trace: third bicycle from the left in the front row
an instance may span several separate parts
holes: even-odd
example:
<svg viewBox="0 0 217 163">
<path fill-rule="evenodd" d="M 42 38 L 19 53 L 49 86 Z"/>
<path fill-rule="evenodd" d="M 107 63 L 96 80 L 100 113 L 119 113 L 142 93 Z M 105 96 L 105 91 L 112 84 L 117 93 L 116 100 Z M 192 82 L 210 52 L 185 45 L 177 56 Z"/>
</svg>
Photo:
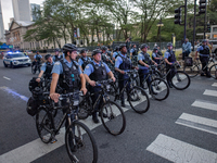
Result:
<svg viewBox="0 0 217 163">
<path fill-rule="evenodd" d="M 135 112 L 142 114 L 145 113 L 150 109 L 150 99 L 146 92 L 138 87 L 138 74 L 136 70 L 125 72 L 129 77 L 127 78 L 127 83 L 124 88 L 119 90 L 119 87 L 113 83 L 112 86 L 112 96 L 114 96 L 114 101 L 120 100 L 122 93 L 127 93 L 127 101 Z M 129 90 L 127 91 L 127 87 Z"/>
</svg>

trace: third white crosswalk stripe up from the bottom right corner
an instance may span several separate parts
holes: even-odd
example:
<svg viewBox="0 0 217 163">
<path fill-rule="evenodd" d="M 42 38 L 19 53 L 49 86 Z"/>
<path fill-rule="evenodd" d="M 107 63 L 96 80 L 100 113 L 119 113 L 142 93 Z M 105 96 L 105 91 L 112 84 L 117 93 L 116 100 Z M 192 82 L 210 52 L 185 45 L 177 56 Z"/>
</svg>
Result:
<svg viewBox="0 0 217 163">
<path fill-rule="evenodd" d="M 217 111 L 217 102 L 210 102 L 210 101 L 205 101 L 205 100 L 195 100 L 191 105 Z"/>
</svg>

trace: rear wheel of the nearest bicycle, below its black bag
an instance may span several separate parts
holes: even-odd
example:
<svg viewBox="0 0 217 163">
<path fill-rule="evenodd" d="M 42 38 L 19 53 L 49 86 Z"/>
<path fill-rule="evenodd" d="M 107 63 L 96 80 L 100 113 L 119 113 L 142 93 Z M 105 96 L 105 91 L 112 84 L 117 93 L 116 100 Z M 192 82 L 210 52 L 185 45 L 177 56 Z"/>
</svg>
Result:
<svg viewBox="0 0 217 163">
<path fill-rule="evenodd" d="M 40 139 L 44 143 L 49 143 L 52 140 L 52 135 L 51 135 L 52 125 L 47 110 L 41 109 L 36 114 L 36 128 Z"/>
</svg>

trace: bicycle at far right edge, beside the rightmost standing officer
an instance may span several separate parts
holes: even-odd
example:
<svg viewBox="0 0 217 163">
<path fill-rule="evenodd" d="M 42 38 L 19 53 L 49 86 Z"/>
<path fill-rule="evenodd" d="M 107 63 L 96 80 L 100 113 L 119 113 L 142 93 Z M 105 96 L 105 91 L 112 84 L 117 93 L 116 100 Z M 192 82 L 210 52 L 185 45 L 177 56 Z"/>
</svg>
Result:
<svg viewBox="0 0 217 163">
<path fill-rule="evenodd" d="M 210 65 L 213 64 L 213 65 Z M 206 64 L 206 66 L 203 68 L 208 68 L 208 72 L 210 74 L 210 76 L 215 79 L 217 79 L 217 64 L 215 62 L 215 54 L 212 55 L 212 58 L 209 58 L 208 63 Z M 183 67 L 183 71 L 190 76 L 190 77 L 195 77 L 199 74 L 203 73 L 202 66 L 199 62 L 199 59 L 196 59 L 196 61 L 193 62 L 192 66 L 186 66 Z"/>
</svg>

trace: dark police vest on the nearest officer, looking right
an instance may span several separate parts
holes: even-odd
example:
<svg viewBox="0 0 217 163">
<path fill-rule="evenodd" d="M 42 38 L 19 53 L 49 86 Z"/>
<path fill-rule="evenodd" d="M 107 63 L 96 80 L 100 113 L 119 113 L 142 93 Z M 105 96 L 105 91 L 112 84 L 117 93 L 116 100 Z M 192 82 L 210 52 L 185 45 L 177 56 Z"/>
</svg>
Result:
<svg viewBox="0 0 217 163">
<path fill-rule="evenodd" d="M 63 74 L 60 75 L 59 83 L 60 86 L 66 91 L 72 92 L 74 90 L 80 89 L 80 77 L 79 77 L 79 65 L 73 60 L 73 64 L 68 67 L 63 60 L 60 61 L 63 66 Z"/>
</svg>

